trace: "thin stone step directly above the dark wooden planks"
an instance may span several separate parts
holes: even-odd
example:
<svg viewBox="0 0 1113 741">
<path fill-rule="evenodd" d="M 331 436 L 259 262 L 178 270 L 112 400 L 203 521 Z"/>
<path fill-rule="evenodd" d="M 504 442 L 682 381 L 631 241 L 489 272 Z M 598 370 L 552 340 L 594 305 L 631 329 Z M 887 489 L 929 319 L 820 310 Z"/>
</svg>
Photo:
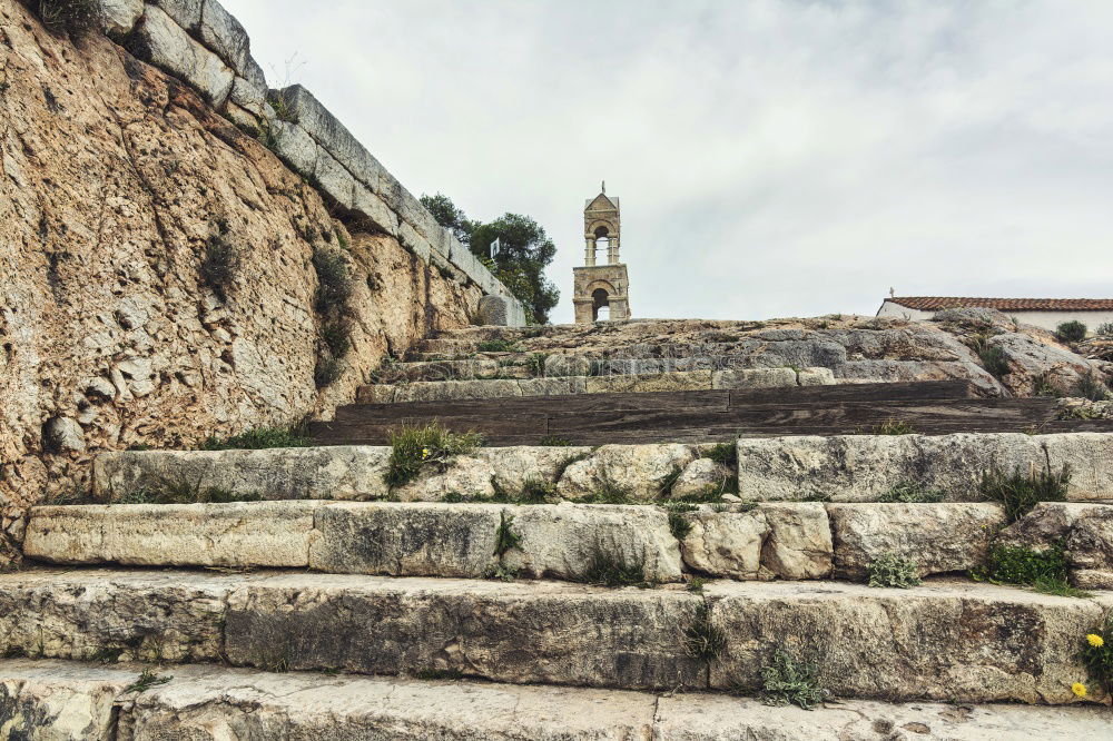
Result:
<svg viewBox="0 0 1113 741">
<path fill-rule="evenodd" d="M 463 360 L 461 360 L 463 363 Z M 445 364 L 422 366 L 432 368 Z M 610 375 L 554 374 L 532 377 L 528 372 L 491 369 L 486 378 L 412 381 L 359 386 L 359 404 L 402 404 L 470 398 L 513 398 L 570 394 L 621 394 L 647 392 L 690 392 L 712 389 L 785 388 L 835 383 L 827 368 L 748 368 L 738 370 L 686 370 Z M 502 374 L 500 376 L 500 374 Z M 450 374 L 451 375 L 451 374 Z M 500 376 L 500 377 L 495 377 Z"/>
</svg>

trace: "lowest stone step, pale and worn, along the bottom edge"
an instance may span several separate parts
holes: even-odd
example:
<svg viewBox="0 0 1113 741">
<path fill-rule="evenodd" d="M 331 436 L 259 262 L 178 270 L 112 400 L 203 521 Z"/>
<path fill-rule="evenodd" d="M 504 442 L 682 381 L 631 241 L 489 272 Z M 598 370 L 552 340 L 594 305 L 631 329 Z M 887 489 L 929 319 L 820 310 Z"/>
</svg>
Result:
<svg viewBox="0 0 1113 741">
<path fill-rule="evenodd" d="M 165 683 L 128 691 L 142 672 Z M 705 692 L 522 686 L 273 673 L 205 664 L 0 661 L 0 733 L 12 739 L 1100 739 L 1109 709 L 851 700 L 808 712 Z"/>
</svg>

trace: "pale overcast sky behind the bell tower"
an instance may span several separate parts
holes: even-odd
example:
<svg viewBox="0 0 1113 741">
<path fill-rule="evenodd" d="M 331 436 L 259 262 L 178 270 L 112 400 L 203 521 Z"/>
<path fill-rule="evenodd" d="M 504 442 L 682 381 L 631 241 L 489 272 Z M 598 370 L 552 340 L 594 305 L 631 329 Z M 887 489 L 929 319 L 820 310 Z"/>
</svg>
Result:
<svg viewBox="0 0 1113 741">
<path fill-rule="evenodd" d="M 223 0 L 415 195 L 533 216 L 572 318 L 622 199 L 636 317 L 1113 296 L 1113 0 Z"/>
</svg>

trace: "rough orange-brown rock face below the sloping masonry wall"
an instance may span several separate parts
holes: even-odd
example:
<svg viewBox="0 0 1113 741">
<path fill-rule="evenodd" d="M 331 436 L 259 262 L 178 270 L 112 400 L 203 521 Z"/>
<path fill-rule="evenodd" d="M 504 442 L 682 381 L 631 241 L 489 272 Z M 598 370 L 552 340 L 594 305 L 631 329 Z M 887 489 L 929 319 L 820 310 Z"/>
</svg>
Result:
<svg viewBox="0 0 1113 741">
<path fill-rule="evenodd" d="M 0 531 L 104 449 L 288 424 L 481 292 L 316 190 L 187 86 L 0 0 Z M 213 245 L 238 265 L 203 277 Z M 314 253 L 347 263 L 352 349 L 318 391 Z M 442 275 L 442 273 L 444 275 Z M 0 556 L 2 562 L 2 556 Z"/>
</svg>

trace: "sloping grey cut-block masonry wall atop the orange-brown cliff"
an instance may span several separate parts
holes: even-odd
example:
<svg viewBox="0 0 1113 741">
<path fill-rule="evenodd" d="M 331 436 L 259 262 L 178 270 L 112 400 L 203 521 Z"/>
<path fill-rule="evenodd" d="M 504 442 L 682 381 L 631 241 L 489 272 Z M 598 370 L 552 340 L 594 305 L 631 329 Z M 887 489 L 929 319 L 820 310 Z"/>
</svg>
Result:
<svg viewBox="0 0 1113 741">
<path fill-rule="evenodd" d="M 260 136 L 346 220 L 395 237 L 426 263 L 502 300 L 495 315 L 525 324 L 525 310 L 397 179 L 299 85 L 267 86 L 244 27 L 216 0 L 100 0 L 108 34 L 198 90 L 242 129 Z M 277 108 L 277 110 L 276 110 Z M 503 312 L 504 307 L 504 312 Z"/>
</svg>

